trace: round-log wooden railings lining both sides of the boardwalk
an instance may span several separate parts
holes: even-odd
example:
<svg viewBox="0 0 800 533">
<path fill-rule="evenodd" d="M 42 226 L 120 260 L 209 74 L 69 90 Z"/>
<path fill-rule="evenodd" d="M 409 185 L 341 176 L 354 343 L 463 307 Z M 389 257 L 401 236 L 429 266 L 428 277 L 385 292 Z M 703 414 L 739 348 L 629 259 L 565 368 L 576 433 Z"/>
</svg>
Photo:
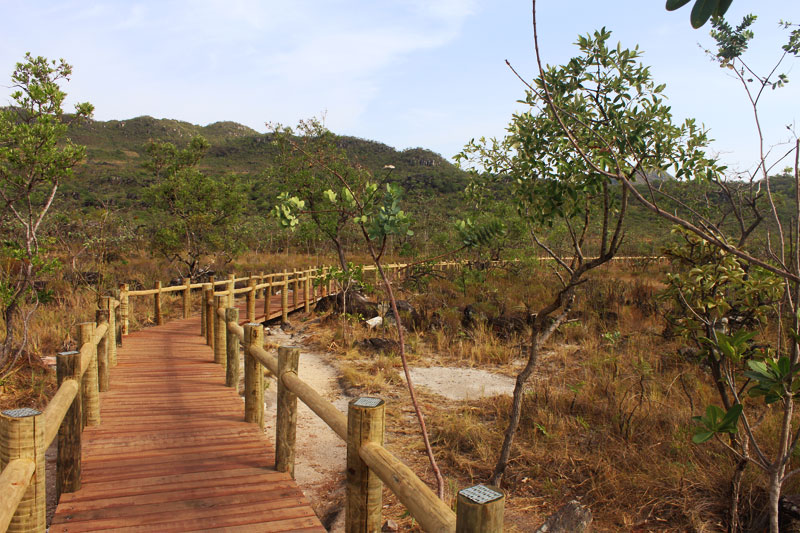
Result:
<svg viewBox="0 0 800 533">
<path fill-rule="evenodd" d="M 458 268 L 458 263 L 438 263 L 435 269 Z M 407 265 L 384 267 L 390 277 L 407 272 Z M 378 272 L 375 267 L 375 281 Z M 200 334 L 214 349 L 214 360 L 223 365 L 226 385 L 239 383 L 239 350 L 244 345 L 244 419 L 264 428 L 264 372 L 266 367 L 278 381 L 275 439 L 276 469 L 294 477 L 297 399 L 303 401 L 347 443 L 346 522 L 348 532 L 379 531 L 381 528 L 382 483 L 408 508 L 429 532 L 502 531 L 504 495 L 493 487 L 478 485 L 459 492 L 457 513 L 440 500 L 414 472 L 383 447 L 385 405 L 379 398 L 362 397 L 350 402 L 347 414 L 320 396 L 298 375 L 300 350 L 281 347 L 278 358 L 263 348 L 263 326 L 256 320 L 255 303 L 264 297 L 264 314 L 270 317 L 273 291 L 281 293 L 282 320 L 300 306 L 310 310 L 312 302 L 330 293 L 330 283 L 316 284 L 326 268 L 260 273 L 225 280 L 129 290 L 123 284 L 118 299 L 104 297 L 96 322 L 78 325 L 78 351 L 57 357 L 58 391 L 43 412 L 15 409 L 0 414 L 0 531 L 43 532 L 46 526 L 45 450 L 58 437 L 58 495 L 73 492 L 81 484 L 81 432 L 86 425 L 100 424 L 99 393 L 108 390 L 108 371 L 116 365 L 117 342 L 129 331 L 130 298 L 153 296 L 156 324 L 163 324 L 161 296 L 181 291 L 183 316 L 191 314 L 191 291 L 202 290 Z M 245 287 L 236 284 L 246 281 Z M 224 290 L 216 290 L 223 285 Z M 289 304 L 291 288 L 292 305 Z M 237 295 L 247 299 L 247 323 L 239 324 L 235 308 Z M 277 309 L 276 309 L 277 311 Z"/>
</svg>

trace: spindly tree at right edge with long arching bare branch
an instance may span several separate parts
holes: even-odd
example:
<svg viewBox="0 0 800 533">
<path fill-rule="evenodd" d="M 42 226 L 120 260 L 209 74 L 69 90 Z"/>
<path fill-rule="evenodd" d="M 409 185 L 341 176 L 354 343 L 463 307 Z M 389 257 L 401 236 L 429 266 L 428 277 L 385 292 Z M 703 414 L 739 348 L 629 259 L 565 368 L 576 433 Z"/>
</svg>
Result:
<svg viewBox="0 0 800 533">
<path fill-rule="evenodd" d="M 773 150 L 766 146 L 758 109 L 761 96 L 766 88 L 778 88 L 788 81 L 785 74 L 778 72 L 778 68 L 785 57 L 800 54 L 800 29 L 790 31 L 788 42 L 782 48 L 783 55 L 774 68 L 768 70 L 767 75 L 758 75 L 742 59 L 742 54 L 747 49 L 747 42 L 752 38 L 752 32 L 748 28 L 754 19 L 752 16 L 745 17 L 742 24 L 733 28 L 717 17 L 712 22 L 714 25 L 712 36 L 717 42 L 717 52 L 714 57 L 722 67 L 731 69 L 743 85 L 759 133 L 761 155 L 757 169 L 751 176 L 760 178 L 758 188 L 765 192 L 764 196 L 771 215 L 770 229 L 766 239 L 767 249 L 760 254 L 737 244 L 744 242 L 741 238 L 738 240 L 728 238 L 724 228 L 715 225 L 703 213 L 692 210 L 686 204 L 682 204 L 689 211 L 689 215 L 685 217 L 663 208 L 665 197 L 661 195 L 659 187 L 654 185 L 649 178 L 648 170 L 652 169 L 656 172 L 671 170 L 676 179 L 690 183 L 725 183 L 723 176 L 727 169 L 705 156 L 701 150 L 704 142 L 702 144 L 698 144 L 697 141 L 687 143 L 677 154 L 679 157 L 669 165 L 653 165 L 653 161 L 642 159 L 634 153 L 621 151 L 618 144 L 619 138 L 610 137 L 597 131 L 592 121 L 581 118 L 582 110 L 565 107 L 560 98 L 560 82 L 558 80 L 547 80 L 547 83 L 541 87 L 541 95 L 550 115 L 561 130 L 563 142 L 580 155 L 589 169 L 608 179 L 622 183 L 635 201 L 659 217 L 673 222 L 682 230 L 715 247 L 722 253 L 721 257 L 732 256 L 745 264 L 745 270 L 758 268 L 781 280 L 783 298 L 777 312 L 779 317 L 778 337 L 774 344 L 757 350 L 754 354 L 753 337 L 748 332 L 742 332 L 742 335 L 733 337 L 722 332 L 722 335 L 726 335 L 725 337 L 718 334 L 709 339 L 714 353 L 726 358 L 721 365 L 724 367 L 722 368 L 723 389 L 725 394 L 729 394 L 733 399 L 733 405 L 725 412 L 719 407 L 709 406 L 704 417 L 696 418 L 696 422 L 702 427 L 695 436 L 696 442 L 701 442 L 711 436 L 736 433 L 739 427 L 745 430 L 747 446 L 751 453 L 749 455 L 740 453 L 731 446 L 729 446 L 729 451 L 739 459 L 755 464 L 767 475 L 770 531 L 777 533 L 781 487 L 787 479 L 800 473 L 800 469 L 787 471 L 789 462 L 800 443 L 800 428 L 793 424 L 794 398 L 800 388 L 800 379 L 797 375 L 800 370 L 800 345 L 798 345 L 800 342 L 800 315 L 798 314 L 800 310 L 798 307 L 800 305 L 800 259 L 797 256 L 797 251 L 800 250 L 800 232 L 797 231 L 798 222 L 800 222 L 800 140 L 792 133 L 794 140 L 790 147 L 775 155 Z M 786 28 L 793 27 L 789 23 L 783 25 Z M 546 70 L 542 66 L 539 53 L 535 0 L 533 0 L 533 30 L 540 78 L 544 78 Z M 573 98 L 591 101 L 593 92 L 591 87 L 578 87 Z M 646 110 L 647 108 L 645 108 Z M 689 131 L 697 131 L 693 123 L 689 123 L 687 126 L 690 127 Z M 630 133 L 634 137 L 626 139 L 625 145 L 636 146 L 640 142 L 641 131 L 633 130 Z M 698 136 L 698 139 L 705 139 L 705 134 Z M 598 151 L 598 146 L 603 149 Z M 612 164 L 609 164 L 608 154 L 613 154 Z M 775 164 L 787 159 L 794 160 L 794 209 L 790 219 L 784 221 L 781 220 L 778 213 L 776 200 L 771 190 L 769 172 Z M 642 187 L 637 187 L 635 180 L 632 179 L 633 176 L 625 172 L 625 169 L 631 166 L 641 167 L 641 172 L 636 176 L 643 182 Z M 666 199 L 670 202 L 681 203 L 676 198 Z M 734 265 L 729 265 L 729 270 L 730 272 L 737 271 Z M 699 322 L 702 323 L 702 320 Z M 763 342 L 763 339 L 761 341 Z M 745 352 L 752 354 L 750 357 L 753 357 L 754 360 L 744 357 Z M 746 364 L 746 368 L 741 368 L 741 364 Z M 778 422 L 777 442 L 770 442 L 769 446 L 759 442 L 755 434 L 755 426 L 758 425 L 758 420 L 761 418 L 754 420 L 747 415 L 748 404 L 745 402 L 745 394 L 750 397 L 762 398 L 767 406 L 778 407 L 779 414 L 776 416 L 780 421 Z M 703 435 L 703 438 L 698 435 Z M 725 444 L 721 439 L 720 441 Z"/>
</svg>

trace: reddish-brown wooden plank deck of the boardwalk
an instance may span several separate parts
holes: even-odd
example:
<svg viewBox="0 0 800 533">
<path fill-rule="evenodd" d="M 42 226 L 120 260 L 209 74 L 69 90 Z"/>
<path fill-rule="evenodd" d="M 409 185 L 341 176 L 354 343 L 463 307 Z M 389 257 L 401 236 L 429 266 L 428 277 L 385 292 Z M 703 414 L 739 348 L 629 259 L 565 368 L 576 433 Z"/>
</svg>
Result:
<svg viewBox="0 0 800 533">
<path fill-rule="evenodd" d="M 125 337 L 50 532 L 325 531 L 199 333 L 193 317 Z"/>
</svg>

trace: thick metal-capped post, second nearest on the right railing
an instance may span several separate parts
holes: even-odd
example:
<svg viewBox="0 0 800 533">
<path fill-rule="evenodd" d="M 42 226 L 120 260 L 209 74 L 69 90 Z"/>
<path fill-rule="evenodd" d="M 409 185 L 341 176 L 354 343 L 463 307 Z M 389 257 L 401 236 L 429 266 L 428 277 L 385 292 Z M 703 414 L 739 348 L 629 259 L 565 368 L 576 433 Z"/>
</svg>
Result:
<svg viewBox="0 0 800 533">
<path fill-rule="evenodd" d="M 383 445 L 384 416 L 385 404 L 380 398 L 355 399 L 347 410 L 347 533 L 381 530 L 383 483 L 358 452 L 366 442 Z"/>
</svg>

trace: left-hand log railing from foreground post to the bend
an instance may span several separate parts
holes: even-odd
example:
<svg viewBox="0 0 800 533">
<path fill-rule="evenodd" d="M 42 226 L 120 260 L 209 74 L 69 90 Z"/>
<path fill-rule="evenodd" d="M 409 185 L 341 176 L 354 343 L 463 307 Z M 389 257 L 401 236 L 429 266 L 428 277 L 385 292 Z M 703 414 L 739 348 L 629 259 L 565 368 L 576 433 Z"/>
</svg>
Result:
<svg viewBox="0 0 800 533">
<path fill-rule="evenodd" d="M 79 350 L 58 354 L 58 390 L 44 411 L 0 413 L 0 531 L 45 531 L 45 451 L 56 437 L 57 497 L 81 486 L 81 433 L 100 424 L 100 392 L 117 362 L 119 302 L 104 297 L 99 307 L 96 322 L 78 324 Z"/>
</svg>

